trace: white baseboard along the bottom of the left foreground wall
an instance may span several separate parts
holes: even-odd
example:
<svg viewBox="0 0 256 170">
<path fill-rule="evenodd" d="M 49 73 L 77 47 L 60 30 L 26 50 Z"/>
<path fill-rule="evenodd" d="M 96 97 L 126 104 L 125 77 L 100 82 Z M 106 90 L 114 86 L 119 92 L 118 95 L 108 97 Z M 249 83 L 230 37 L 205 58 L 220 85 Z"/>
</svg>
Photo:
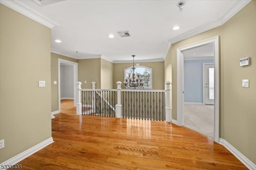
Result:
<svg viewBox="0 0 256 170">
<path fill-rule="evenodd" d="M 24 152 L 4 161 L 2 164 L 0 164 L 0 168 L 1 170 L 4 170 L 2 168 L 2 165 L 14 165 L 17 164 L 18 162 L 24 160 L 25 158 L 27 158 L 28 156 L 36 153 L 38 150 L 44 148 L 45 146 L 48 146 L 49 144 L 51 144 L 53 141 L 53 138 L 50 137 L 46 140 L 44 140 L 43 142 L 36 144 L 35 146 L 33 146 L 32 148 L 29 148 L 28 150 L 25 150 Z"/>
</svg>

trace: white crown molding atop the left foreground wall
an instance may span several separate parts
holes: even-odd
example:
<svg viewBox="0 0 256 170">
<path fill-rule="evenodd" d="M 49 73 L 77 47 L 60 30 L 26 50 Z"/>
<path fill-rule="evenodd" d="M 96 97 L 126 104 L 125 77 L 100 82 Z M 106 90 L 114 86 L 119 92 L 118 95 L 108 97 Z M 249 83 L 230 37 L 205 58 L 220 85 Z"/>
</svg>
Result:
<svg viewBox="0 0 256 170">
<path fill-rule="evenodd" d="M 28 18 L 30 18 L 32 20 L 35 20 L 36 22 L 39 22 L 40 24 L 43 24 L 44 26 L 46 26 L 50 29 L 58 26 L 58 24 L 56 22 L 43 16 L 42 14 L 40 14 L 33 8 L 30 8 L 29 6 L 27 6 L 26 4 L 24 4 L 23 2 L 21 2 L 19 0 L 0 0 L 0 3 L 19 12 L 20 14 L 23 14 L 24 16 L 27 16 Z"/>
</svg>

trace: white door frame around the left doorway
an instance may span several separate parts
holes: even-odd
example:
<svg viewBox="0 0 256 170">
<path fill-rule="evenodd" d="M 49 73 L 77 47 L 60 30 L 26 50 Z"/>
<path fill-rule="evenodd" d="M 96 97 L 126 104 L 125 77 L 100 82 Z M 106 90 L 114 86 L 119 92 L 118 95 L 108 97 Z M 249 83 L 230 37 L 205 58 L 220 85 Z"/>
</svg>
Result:
<svg viewBox="0 0 256 170">
<path fill-rule="evenodd" d="M 78 63 L 58 58 L 58 108 L 60 113 L 60 63 L 71 64 L 74 66 L 74 106 L 76 106 L 76 82 L 78 81 Z"/>
</svg>

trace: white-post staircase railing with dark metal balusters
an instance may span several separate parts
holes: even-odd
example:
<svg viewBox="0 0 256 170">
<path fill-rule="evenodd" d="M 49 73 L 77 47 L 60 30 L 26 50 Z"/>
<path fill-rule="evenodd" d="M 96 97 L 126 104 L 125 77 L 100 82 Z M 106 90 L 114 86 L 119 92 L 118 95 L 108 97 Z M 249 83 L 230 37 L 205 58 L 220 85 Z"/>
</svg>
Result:
<svg viewBox="0 0 256 170">
<path fill-rule="evenodd" d="M 117 118 L 171 121 L 170 82 L 166 90 L 121 89 L 81 89 L 77 82 L 77 115 L 95 115 Z"/>
</svg>

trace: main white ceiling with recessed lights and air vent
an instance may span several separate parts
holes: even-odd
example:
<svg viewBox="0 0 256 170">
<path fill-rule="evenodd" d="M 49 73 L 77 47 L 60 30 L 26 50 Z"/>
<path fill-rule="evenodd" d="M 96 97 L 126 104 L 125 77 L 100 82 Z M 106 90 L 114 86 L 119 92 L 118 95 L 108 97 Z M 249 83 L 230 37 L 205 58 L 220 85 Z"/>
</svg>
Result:
<svg viewBox="0 0 256 170">
<path fill-rule="evenodd" d="M 180 12 L 178 0 L 60 0 L 43 6 L 36 1 L 19 4 L 57 23 L 52 28 L 52 52 L 112 62 L 132 61 L 131 55 L 136 61 L 163 61 L 170 43 L 224 24 L 250 2 L 186 0 Z M 174 31 L 174 26 L 180 29 Z M 121 38 L 120 31 L 131 36 Z M 109 34 L 115 37 L 108 38 Z"/>
</svg>

